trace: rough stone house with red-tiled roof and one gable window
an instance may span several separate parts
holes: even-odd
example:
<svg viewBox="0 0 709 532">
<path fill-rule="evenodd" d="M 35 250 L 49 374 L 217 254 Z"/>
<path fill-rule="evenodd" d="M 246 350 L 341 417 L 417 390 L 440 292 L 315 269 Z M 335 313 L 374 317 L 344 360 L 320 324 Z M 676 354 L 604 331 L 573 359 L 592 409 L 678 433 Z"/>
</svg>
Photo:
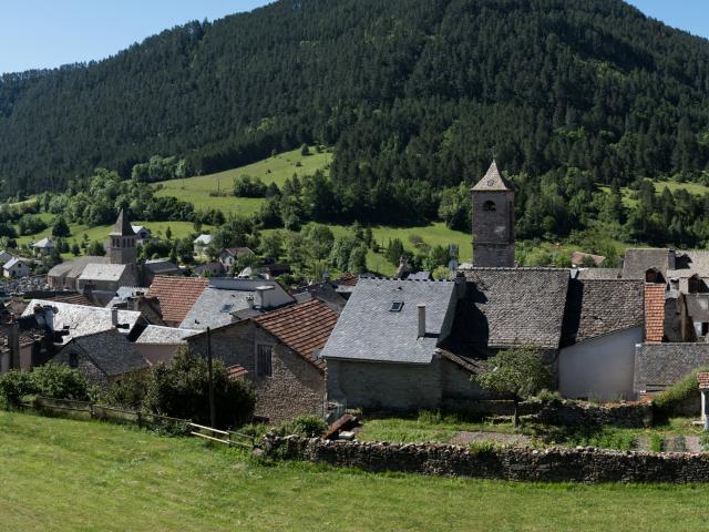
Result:
<svg viewBox="0 0 709 532">
<path fill-rule="evenodd" d="M 325 412 L 325 346 L 337 314 L 323 303 L 306 303 L 259 314 L 210 330 L 212 354 L 248 379 L 256 391 L 256 415 L 278 423 L 298 415 Z M 207 334 L 186 338 L 207 354 Z"/>
</svg>

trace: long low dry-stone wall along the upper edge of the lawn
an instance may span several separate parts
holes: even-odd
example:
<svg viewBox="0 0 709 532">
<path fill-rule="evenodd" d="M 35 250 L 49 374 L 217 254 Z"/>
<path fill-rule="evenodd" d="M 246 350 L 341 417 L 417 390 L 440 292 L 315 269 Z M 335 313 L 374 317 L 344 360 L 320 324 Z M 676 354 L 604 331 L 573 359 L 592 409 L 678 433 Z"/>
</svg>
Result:
<svg viewBox="0 0 709 532">
<path fill-rule="evenodd" d="M 266 456 L 366 471 L 402 471 L 535 482 L 706 482 L 709 453 L 623 452 L 600 449 L 494 449 L 388 444 L 268 436 Z"/>
</svg>

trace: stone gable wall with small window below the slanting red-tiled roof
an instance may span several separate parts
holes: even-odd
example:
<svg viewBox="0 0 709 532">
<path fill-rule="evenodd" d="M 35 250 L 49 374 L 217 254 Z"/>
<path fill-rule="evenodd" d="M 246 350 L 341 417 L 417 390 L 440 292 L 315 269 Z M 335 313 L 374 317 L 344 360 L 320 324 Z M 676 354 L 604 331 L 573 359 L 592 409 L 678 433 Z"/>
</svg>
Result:
<svg viewBox="0 0 709 532">
<path fill-rule="evenodd" d="M 188 346 L 206 356 L 206 335 L 187 338 Z M 259 376 L 258 346 L 271 347 L 271 375 Z M 242 366 L 254 383 L 257 416 L 279 423 L 304 413 L 325 412 L 325 375 L 276 337 L 245 320 L 212 331 L 212 356 L 226 366 Z"/>
</svg>

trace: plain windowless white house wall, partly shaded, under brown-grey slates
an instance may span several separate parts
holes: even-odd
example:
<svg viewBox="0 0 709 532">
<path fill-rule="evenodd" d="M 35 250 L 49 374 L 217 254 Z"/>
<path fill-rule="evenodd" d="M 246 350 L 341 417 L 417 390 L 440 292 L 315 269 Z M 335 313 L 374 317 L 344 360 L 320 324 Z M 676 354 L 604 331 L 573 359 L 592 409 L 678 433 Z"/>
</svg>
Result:
<svg viewBox="0 0 709 532">
<path fill-rule="evenodd" d="M 558 389 L 567 398 L 631 399 L 635 345 L 643 328 L 612 332 L 561 350 Z"/>
</svg>

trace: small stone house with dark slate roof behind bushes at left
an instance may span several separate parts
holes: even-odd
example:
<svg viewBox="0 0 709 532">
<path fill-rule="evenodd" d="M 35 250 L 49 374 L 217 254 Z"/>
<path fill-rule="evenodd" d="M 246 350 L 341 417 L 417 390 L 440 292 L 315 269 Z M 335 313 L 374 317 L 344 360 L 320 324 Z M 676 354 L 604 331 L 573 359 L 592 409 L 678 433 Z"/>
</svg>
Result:
<svg viewBox="0 0 709 532">
<path fill-rule="evenodd" d="M 116 329 L 72 338 L 52 359 L 76 369 L 89 382 L 109 388 L 132 371 L 145 371 L 150 362 Z"/>
</svg>

